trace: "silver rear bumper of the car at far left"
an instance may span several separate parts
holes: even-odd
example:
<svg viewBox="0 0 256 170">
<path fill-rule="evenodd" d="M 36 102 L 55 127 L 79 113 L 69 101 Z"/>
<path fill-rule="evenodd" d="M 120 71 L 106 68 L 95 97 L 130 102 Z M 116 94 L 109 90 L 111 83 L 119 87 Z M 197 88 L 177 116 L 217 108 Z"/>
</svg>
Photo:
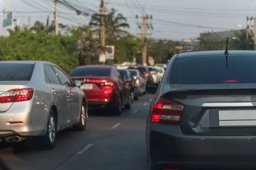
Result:
<svg viewBox="0 0 256 170">
<path fill-rule="evenodd" d="M 7 136 L 42 136 L 47 133 L 48 111 L 33 108 L 32 100 L 15 102 L 0 113 L 0 138 Z M 23 122 L 10 124 L 10 122 Z"/>
</svg>

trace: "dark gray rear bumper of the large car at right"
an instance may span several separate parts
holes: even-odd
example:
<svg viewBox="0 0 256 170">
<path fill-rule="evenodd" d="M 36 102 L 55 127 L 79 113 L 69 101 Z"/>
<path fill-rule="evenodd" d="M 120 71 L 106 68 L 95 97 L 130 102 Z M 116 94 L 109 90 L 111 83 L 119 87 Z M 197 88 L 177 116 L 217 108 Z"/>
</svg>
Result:
<svg viewBox="0 0 256 170">
<path fill-rule="evenodd" d="M 177 125 L 149 124 L 151 170 L 256 169 L 256 136 L 183 135 Z"/>
</svg>

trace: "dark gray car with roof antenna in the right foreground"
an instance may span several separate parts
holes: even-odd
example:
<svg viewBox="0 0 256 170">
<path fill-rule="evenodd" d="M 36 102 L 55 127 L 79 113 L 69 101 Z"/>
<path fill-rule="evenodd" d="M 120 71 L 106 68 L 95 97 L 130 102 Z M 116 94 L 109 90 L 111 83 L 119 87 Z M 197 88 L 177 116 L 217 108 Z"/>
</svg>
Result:
<svg viewBox="0 0 256 170">
<path fill-rule="evenodd" d="M 256 51 L 175 54 L 146 90 L 148 170 L 256 169 Z"/>
</svg>

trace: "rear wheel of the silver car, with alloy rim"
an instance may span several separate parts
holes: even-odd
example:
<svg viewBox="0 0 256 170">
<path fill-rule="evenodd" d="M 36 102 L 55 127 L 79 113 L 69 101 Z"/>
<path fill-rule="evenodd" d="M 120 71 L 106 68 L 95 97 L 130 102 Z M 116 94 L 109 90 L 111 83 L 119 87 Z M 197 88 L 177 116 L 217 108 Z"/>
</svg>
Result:
<svg viewBox="0 0 256 170">
<path fill-rule="evenodd" d="M 52 149 L 56 143 L 57 124 L 55 111 L 51 110 L 47 122 L 47 134 L 43 136 L 41 142 L 42 147 L 46 150 Z"/>
</svg>

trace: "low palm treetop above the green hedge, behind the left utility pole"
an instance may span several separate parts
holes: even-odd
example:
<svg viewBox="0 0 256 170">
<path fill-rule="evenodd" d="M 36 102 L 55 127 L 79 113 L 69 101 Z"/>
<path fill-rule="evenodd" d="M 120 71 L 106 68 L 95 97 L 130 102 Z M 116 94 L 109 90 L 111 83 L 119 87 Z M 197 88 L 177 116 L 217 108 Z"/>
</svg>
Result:
<svg viewBox="0 0 256 170">
<path fill-rule="evenodd" d="M 59 28 L 61 29 L 67 27 L 67 26 L 64 26 L 63 24 L 58 24 L 58 25 L 59 25 Z M 51 24 L 49 25 L 49 16 L 48 16 L 46 20 L 46 25 L 44 25 L 44 23 L 41 23 L 40 21 L 36 21 L 34 23 L 34 26 L 30 29 L 37 33 L 40 31 L 46 31 L 47 34 L 53 34 L 55 32 L 55 21 L 52 20 Z"/>
</svg>

